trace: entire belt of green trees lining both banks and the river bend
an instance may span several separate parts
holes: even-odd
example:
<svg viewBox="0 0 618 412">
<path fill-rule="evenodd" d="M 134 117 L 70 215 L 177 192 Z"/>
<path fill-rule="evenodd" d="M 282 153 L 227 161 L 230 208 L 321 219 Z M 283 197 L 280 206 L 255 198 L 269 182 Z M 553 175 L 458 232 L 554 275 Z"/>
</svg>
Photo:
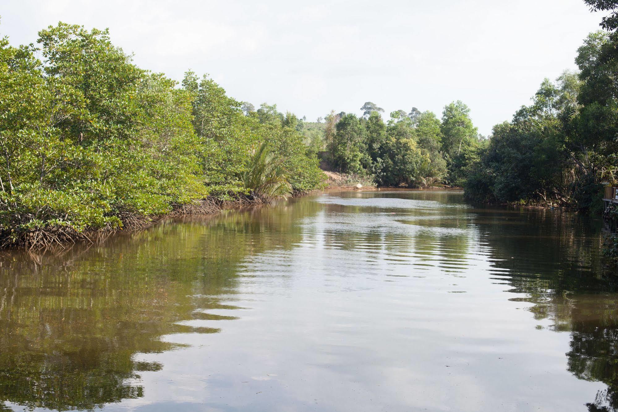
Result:
<svg viewBox="0 0 618 412">
<path fill-rule="evenodd" d="M 107 30 L 60 23 L 36 45 L 0 38 L 0 247 L 70 241 L 200 205 L 325 186 L 327 170 L 389 187 L 464 187 L 478 202 L 603 207 L 616 181 L 617 1 L 577 51 L 489 137 L 462 101 L 317 122 L 235 100 L 208 75 L 135 66 Z M 387 117 L 387 119 L 386 119 Z M 210 202 L 210 203 L 208 203 Z"/>
</svg>

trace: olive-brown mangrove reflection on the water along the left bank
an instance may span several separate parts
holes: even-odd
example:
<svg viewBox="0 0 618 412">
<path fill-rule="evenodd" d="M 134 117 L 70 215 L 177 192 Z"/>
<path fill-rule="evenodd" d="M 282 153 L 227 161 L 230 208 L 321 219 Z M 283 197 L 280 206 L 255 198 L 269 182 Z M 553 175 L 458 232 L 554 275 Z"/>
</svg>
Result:
<svg viewBox="0 0 618 412">
<path fill-rule="evenodd" d="M 300 239 L 292 222 L 317 208 L 167 222 L 59 255 L 2 254 L 0 401 L 92 410 L 142 397 L 140 372 L 162 366 L 135 354 L 173 350 L 162 339 L 171 333 L 219 332 L 179 322 L 234 319 L 208 310 L 235 309 L 220 296 L 235 293 L 237 264 L 292 247 Z"/>
</svg>

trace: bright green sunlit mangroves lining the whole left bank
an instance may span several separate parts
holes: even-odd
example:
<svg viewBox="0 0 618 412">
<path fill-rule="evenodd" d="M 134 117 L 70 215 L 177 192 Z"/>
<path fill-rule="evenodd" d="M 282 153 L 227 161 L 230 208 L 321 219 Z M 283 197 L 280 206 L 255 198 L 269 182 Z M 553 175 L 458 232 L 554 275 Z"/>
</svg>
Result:
<svg viewBox="0 0 618 412">
<path fill-rule="evenodd" d="M 135 66 L 107 31 L 59 24 L 39 35 L 38 47 L 0 38 L 0 246 L 137 225 L 207 198 L 321 187 L 294 114 L 252 111 L 193 72 L 177 87 Z M 261 172 L 276 176 L 250 170 L 258 150 L 276 163 Z"/>
</svg>

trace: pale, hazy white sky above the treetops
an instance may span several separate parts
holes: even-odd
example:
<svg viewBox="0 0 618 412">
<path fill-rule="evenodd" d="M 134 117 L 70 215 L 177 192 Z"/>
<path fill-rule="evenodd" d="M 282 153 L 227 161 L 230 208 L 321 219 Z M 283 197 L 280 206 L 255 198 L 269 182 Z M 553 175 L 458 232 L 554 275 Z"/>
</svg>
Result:
<svg viewBox="0 0 618 412">
<path fill-rule="evenodd" d="M 512 118 L 545 77 L 575 70 L 603 17 L 583 0 L 1 0 L 0 35 L 35 43 L 62 21 L 109 28 L 135 63 L 182 80 L 208 73 L 228 95 L 315 121 L 431 110 L 462 100 L 479 132 Z"/>
</svg>

